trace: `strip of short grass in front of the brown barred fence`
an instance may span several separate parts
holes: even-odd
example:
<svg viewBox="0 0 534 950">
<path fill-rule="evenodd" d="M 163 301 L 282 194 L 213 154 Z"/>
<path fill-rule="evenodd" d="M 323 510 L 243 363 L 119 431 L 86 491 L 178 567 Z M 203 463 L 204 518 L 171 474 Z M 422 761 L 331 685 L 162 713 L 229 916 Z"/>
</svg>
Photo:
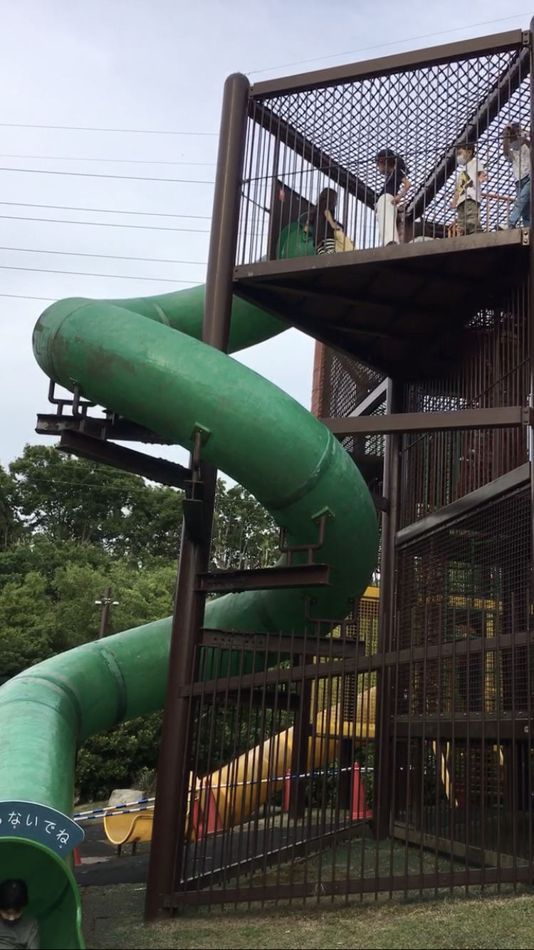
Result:
<svg viewBox="0 0 534 950">
<path fill-rule="evenodd" d="M 139 895 L 140 889 L 137 888 Z M 128 894 L 124 886 L 121 914 Z M 532 950 L 534 900 L 529 896 L 424 902 L 383 902 L 308 910 L 188 912 L 143 926 L 142 895 L 131 916 L 100 918 L 91 950 Z M 103 908 L 104 909 L 104 908 Z M 109 907 L 111 909 L 111 907 Z"/>
</svg>

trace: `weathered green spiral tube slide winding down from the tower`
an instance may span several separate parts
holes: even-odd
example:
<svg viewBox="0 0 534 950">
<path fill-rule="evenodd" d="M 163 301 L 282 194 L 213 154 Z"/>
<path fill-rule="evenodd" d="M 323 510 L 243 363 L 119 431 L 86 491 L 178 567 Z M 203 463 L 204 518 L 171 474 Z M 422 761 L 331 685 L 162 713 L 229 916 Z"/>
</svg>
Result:
<svg viewBox="0 0 534 950">
<path fill-rule="evenodd" d="M 314 592 L 313 612 L 341 619 L 376 560 L 371 495 L 329 429 L 256 372 L 201 343 L 203 299 L 204 288 L 196 287 L 144 299 L 60 301 L 37 321 L 35 358 L 67 390 L 77 383 L 91 402 L 173 444 L 191 448 L 201 427 L 204 457 L 251 491 L 289 542 L 315 543 L 317 521 L 326 515 L 320 560 L 331 565 L 332 583 Z M 231 352 L 285 329 L 234 299 Z M 204 625 L 298 634 L 304 614 L 303 591 L 257 591 L 210 601 Z M 43 947 L 84 946 L 72 857 L 48 846 L 46 835 L 37 841 L 23 825 L 8 828 L 2 804 L 72 814 L 81 743 L 162 709 L 170 630 L 165 618 L 87 643 L 0 688 L 0 877 L 26 879 Z"/>
</svg>

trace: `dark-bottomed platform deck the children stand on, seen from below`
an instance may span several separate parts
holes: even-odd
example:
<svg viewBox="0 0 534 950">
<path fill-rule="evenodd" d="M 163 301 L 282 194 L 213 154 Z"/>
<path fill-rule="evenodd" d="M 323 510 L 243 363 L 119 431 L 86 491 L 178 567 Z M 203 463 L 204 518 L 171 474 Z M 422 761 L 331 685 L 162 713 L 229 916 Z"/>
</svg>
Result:
<svg viewBox="0 0 534 950">
<path fill-rule="evenodd" d="M 234 292 L 385 375 L 431 376 L 527 269 L 528 233 L 510 230 L 241 265 Z"/>
</svg>

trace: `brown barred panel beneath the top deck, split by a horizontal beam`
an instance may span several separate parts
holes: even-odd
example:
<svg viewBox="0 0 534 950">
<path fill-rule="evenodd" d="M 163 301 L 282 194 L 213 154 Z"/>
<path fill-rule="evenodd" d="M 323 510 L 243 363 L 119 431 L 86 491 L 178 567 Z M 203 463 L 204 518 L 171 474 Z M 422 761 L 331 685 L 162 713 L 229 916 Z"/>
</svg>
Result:
<svg viewBox="0 0 534 950">
<path fill-rule="evenodd" d="M 448 379 L 406 387 L 407 412 L 526 406 L 528 292 L 518 288 L 499 309 L 477 314 L 465 357 Z M 525 428 L 419 432 L 403 440 L 402 525 L 462 498 L 528 461 Z"/>
</svg>

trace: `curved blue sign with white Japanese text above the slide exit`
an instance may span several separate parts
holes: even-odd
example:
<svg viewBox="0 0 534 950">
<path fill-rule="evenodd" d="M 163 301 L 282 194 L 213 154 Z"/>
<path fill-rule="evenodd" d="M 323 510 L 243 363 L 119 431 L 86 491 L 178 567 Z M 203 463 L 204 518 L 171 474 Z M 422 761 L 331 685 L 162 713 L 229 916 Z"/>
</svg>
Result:
<svg viewBox="0 0 534 950">
<path fill-rule="evenodd" d="M 63 812 L 35 802 L 0 802 L 0 838 L 29 838 L 60 857 L 82 844 L 84 829 Z"/>
</svg>

